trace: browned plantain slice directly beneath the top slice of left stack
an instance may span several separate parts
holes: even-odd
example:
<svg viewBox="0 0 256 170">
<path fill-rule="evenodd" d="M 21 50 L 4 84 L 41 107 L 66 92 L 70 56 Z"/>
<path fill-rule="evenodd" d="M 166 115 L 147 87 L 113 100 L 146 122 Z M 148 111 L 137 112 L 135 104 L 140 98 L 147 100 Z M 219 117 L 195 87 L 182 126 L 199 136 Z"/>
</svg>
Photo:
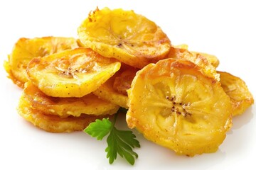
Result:
<svg viewBox="0 0 256 170">
<path fill-rule="evenodd" d="M 67 118 L 81 114 L 86 115 L 112 115 L 117 113 L 119 106 L 103 101 L 94 94 L 87 94 L 82 98 L 56 98 L 43 94 L 31 81 L 26 82 L 23 89 L 25 98 L 33 108 L 45 114 L 59 115 Z"/>
</svg>

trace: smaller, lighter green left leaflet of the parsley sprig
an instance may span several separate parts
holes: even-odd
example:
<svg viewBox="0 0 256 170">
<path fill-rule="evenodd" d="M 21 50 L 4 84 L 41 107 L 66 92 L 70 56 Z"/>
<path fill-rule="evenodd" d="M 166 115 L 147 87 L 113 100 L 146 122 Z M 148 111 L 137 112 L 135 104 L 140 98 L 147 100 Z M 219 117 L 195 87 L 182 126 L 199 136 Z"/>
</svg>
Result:
<svg viewBox="0 0 256 170">
<path fill-rule="evenodd" d="M 92 137 L 97 137 L 97 140 L 102 140 L 110 130 L 112 129 L 112 123 L 109 118 L 103 118 L 102 120 L 95 120 L 94 123 L 90 123 L 87 128 L 85 128 L 84 132 Z"/>
</svg>

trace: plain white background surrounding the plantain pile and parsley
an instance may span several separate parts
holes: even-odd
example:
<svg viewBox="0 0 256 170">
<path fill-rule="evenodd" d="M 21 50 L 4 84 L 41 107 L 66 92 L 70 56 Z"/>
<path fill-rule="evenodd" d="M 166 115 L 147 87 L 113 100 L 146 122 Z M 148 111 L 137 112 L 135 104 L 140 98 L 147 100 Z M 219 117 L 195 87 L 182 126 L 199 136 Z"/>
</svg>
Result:
<svg viewBox="0 0 256 170">
<path fill-rule="evenodd" d="M 142 145 L 134 166 L 122 159 L 109 165 L 104 141 L 83 132 L 44 132 L 16 113 L 21 89 L 2 67 L 14 43 L 21 37 L 77 38 L 78 26 L 96 6 L 133 9 L 161 26 L 172 44 L 216 55 L 218 70 L 241 77 L 256 96 L 254 1 L 0 1 L 0 169 L 255 169 L 255 106 L 233 119 L 213 154 L 177 156 L 134 130 Z"/>
</svg>

